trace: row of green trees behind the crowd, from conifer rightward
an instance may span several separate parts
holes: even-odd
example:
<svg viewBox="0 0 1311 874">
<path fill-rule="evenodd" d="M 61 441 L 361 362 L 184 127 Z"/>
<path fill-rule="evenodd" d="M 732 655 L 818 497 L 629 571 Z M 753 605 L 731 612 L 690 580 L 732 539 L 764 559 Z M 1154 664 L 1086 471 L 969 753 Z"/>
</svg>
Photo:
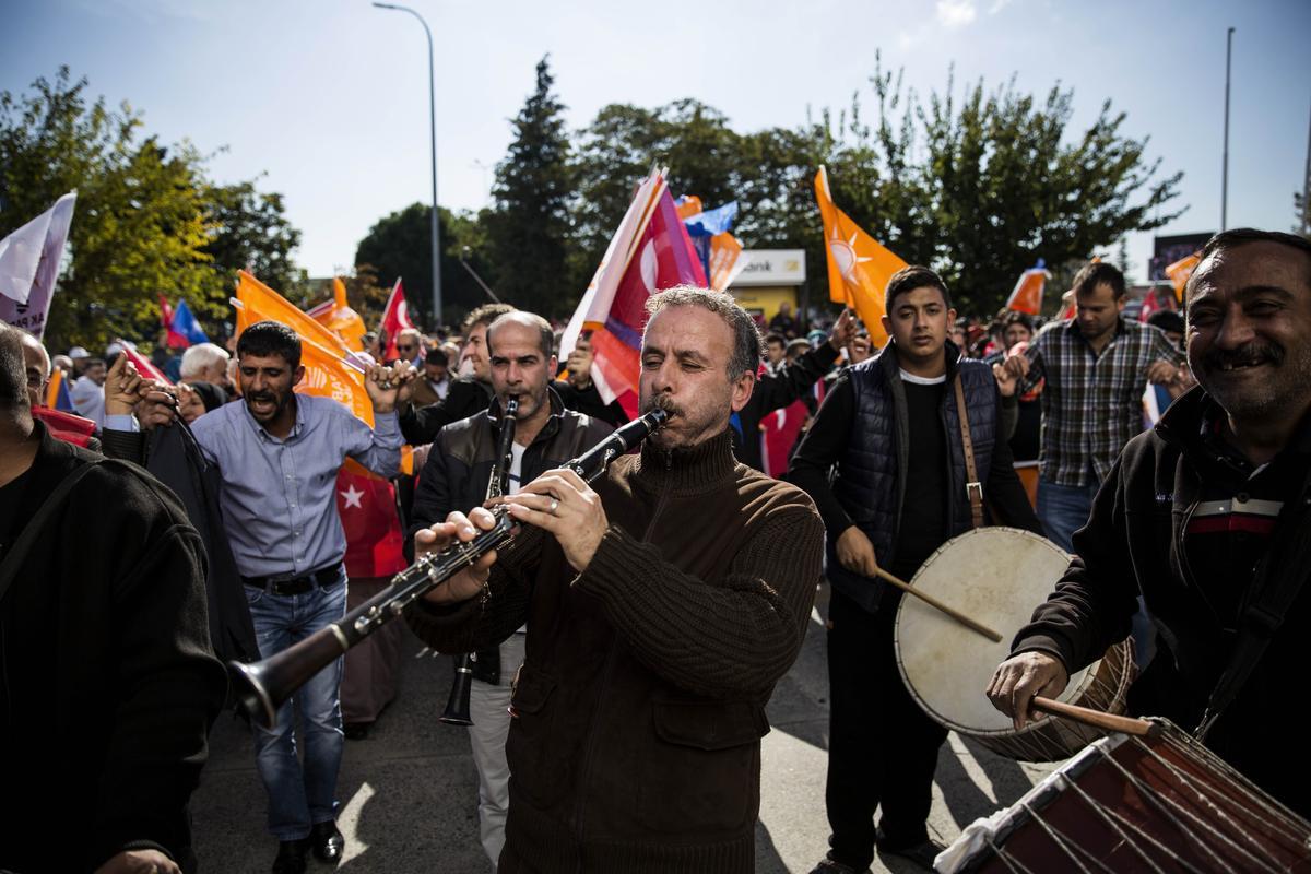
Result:
<svg viewBox="0 0 1311 874">
<path fill-rule="evenodd" d="M 496 204 L 465 225 L 502 296 L 544 314 L 572 312 L 652 166 L 669 168 L 675 195 L 707 207 L 735 199 L 743 245 L 805 249 L 822 287 L 814 176 L 826 165 L 843 211 L 906 261 L 941 273 L 960 308 L 979 314 L 1038 258 L 1059 284 L 1129 232 L 1181 212 L 1169 208 L 1181 174 L 1162 173 L 1147 140 L 1125 134 L 1125 114 L 1106 101 L 1078 130 L 1074 93 L 1059 84 L 1038 96 L 1013 80 L 958 88 L 949 72 L 941 92 L 920 97 L 876 55 L 867 92 L 794 128 L 739 132 L 696 100 L 611 104 L 568 138 L 572 149 L 551 88 L 543 59 L 497 168 Z M 416 257 L 426 252 L 417 236 L 409 245 Z M 385 278 L 389 262 L 364 254 L 362 244 L 361 258 Z"/>
</svg>

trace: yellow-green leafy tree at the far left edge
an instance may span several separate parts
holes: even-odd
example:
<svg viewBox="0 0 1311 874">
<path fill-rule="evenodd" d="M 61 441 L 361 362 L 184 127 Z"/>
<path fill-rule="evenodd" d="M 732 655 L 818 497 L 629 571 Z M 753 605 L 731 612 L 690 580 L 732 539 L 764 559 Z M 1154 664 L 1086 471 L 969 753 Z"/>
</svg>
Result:
<svg viewBox="0 0 1311 874">
<path fill-rule="evenodd" d="M 160 143 L 131 106 L 90 100 L 87 86 L 63 67 L 26 94 L 0 92 L 0 237 L 77 190 L 51 349 L 155 337 L 160 294 L 212 325 L 248 263 L 274 282 L 295 275 L 298 233 L 281 198 L 212 183 L 194 145 Z"/>
</svg>

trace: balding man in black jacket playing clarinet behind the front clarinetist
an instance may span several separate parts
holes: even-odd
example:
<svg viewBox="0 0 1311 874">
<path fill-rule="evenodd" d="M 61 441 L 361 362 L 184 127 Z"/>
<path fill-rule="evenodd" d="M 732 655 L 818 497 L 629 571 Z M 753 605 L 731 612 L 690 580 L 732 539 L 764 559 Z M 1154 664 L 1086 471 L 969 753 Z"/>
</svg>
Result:
<svg viewBox="0 0 1311 874">
<path fill-rule="evenodd" d="M 490 409 L 438 431 L 414 494 L 413 531 L 442 522 L 456 510 L 469 512 L 482 506 L 494 469 L 503 470 L 505 494 L 511 495 L 520 484 L 564 465 L 610 434 L 608 425 L 564 409 L 549 388 L 556 372 L 552 342 L 551 324 L 527 312 L 506 313 L 488 326 L 496 398 Z M 518 401 L 519 409 L 506 469 L 497 452 L 505 427 L 502 410 L 510 398 Z M 479 770 L 479 831 L 492 865 L 505 844 L 510 680 L 523 663 L 524 637 L 520 628 L 499 646 L 480 650 L 472 660 L 469 746 Z"/>
</svg>

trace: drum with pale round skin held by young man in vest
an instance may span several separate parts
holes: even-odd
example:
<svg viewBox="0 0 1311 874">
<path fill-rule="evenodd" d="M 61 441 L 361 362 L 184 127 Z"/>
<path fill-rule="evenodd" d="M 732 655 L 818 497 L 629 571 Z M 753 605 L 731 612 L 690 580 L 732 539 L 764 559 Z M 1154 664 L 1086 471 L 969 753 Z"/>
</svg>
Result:
<svg viewBox="0 0 1311 874">
<path fill-rule="evenodd" d="M 941 725 L 1024 761 L 1059 761 L 1100 736 L 1061 718 L 1023 730 L 998 712 L 983 691 L 1011 641 L 1029 621 L 1070 557 L 1055 544 L 1019 528 L 975 528 L 943 544 L 911 586 L 1002 634 L 994 642 L 918 598 L 902 598 L 897 612 L 897 662 L 911 696 Z M 1061 701 L 1122 713 L 1134 679 L 1133 643 L 1125 641 L 1071 677 Z"/>
</svg>

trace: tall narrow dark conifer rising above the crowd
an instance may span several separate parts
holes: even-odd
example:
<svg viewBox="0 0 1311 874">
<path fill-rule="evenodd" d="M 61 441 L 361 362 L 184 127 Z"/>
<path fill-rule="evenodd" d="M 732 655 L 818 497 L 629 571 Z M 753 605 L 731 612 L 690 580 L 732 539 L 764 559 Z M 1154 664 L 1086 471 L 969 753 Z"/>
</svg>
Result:
<svg viewBox="0 0 1311 874">
<path fill-rule="evenodd" d="M 485 216 L 488 258 L 498 294 L 544 316 L 566 313 L 581 288 L 566 275 L 573 173 L 564 104 L 552 93 L 547 58 L 536 88 L 511 122 L 514 139 L 497 164 L 493 210 Z"/>
</svg>

